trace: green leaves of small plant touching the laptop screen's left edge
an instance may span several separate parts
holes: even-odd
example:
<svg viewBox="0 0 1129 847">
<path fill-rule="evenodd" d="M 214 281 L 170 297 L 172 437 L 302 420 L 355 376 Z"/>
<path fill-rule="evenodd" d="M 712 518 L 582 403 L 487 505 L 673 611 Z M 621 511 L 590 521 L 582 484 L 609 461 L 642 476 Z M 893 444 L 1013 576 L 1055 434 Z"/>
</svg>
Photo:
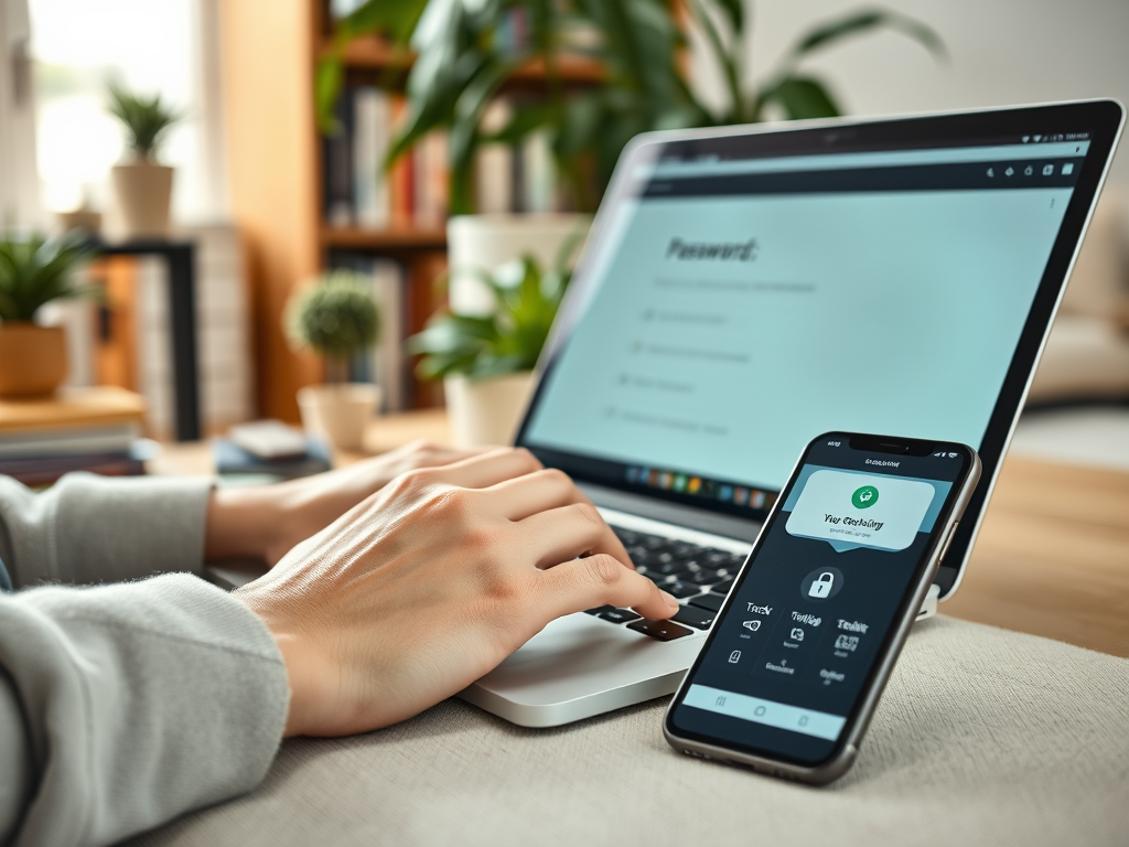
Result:
<svg viewBox="0 0 1129 847">
<path fill-rule="evenodd" d="M 571 271 L 564 262 L 575 242 L 561 250 L 553 268 L 542 270 L 531 255 L 507 262 L 492 273 L 474 273 L 497 302 L 487 316 L 444 309 L 427 329 L 408 340 L 412 353 L 422 353 L 417 373 L 423 379 L 465 375 L 471 379 L 532 370 L 549 338 Z"/>
</svg>

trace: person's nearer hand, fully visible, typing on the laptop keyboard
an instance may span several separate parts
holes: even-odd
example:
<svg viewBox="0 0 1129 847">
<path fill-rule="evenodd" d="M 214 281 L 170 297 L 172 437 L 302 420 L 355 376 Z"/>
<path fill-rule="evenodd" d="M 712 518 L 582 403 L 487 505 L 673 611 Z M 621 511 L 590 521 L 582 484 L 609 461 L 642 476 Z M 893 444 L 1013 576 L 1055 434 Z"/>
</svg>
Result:
<svg viewBox="0 0 1129 847">
<path fill-rule="evenodd" d="M 677 611 L 629 562 L 568 477 L 504 448 L 397 477 L 235 596 L 282 652 L 286 734 L 344 735 L 462 690 L 561 615 Z"/>
</svg>

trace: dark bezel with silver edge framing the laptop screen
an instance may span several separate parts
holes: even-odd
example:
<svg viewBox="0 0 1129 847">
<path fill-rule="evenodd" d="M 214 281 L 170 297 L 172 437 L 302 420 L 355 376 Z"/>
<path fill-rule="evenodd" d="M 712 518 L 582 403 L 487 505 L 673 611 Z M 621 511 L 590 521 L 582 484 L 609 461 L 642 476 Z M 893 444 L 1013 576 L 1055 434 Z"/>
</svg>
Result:
<svg viewBox="0 0 1129 847">
<path fill-rule="evenodd" d="M 515 439 L 537 455 L 545 464 L 560 468 L 579 482 L 597 484 L 607 489 L 622 490 L 641 499 L 680 501 L 694 509 L 709 510 L 709 505 L 690 501 L 639 486 L 616 482 L 606 477 L 594 478 L 586 471 L 592 456 L 571 454 L 559 449 L 548 449 L 532 444 L 526 434 L 537 403 L 542 398 L 544 377 L 554 366 L 557 358 L 583 314 L 579 305 L 586 302 L 586 288 L 590 286 L 588 261 L 599 255 L 603 242 L 609 238 L 606 222 L 613 218 L 615 209 L 633 194 L 629 191 L 630 174 L 645 161 L 655 159 L 656 145 L 694 145 L 703 147 L 720 142 L 749 145 L 742 155 L 749 157 L 778 157 L 781 155 L 807 155 L 829 152 L 855 152 L 863 150 L 926 149 L 946 146 L 968 146 L 977 140 L 998 138 L 1014 139 L 1025 133 L 1089 133 L 1089 150 L 1080 169 L 1070 203 L 1059 228 L 1058 237 L 1043 270 L 1027 320 L 1016 344 L 1012 364 L 979 451 L 983 473 L 964 519 L 953 538 L 946 561 L 938 571 L 936 583 L 940 599 L 947 600 L 956 591 L 971 552 L 972 544 L 983 521 L 986 505 L 995 488 L 996 480 L 1015 431 L 1015 425 L 1023 409 L 1035 367 L 1042 355 L 1050 326 L 1058 311 L 1066 281 L 1080 250 L 1086 228 L 1089 225 L 1096 198 L 1109 173 L 1112 151 L 1117 147 L 1124 124 L 1124 108 L 1117 101 L 1097 99 L 1070 103 L 1051 103 L 1008 108 L 989 108 L 903 115 L 867 120 L 802 121 L 789 124 L 727 126 L 706 130 L 677 130 L 644 133 L 634 138 L 624 149 L 616 164 L 607 192 L 593 221 L 587 244 L 577 264 L 570 290 L 558 314 L 536 369 L 536 385 L 526 407 L 525 416 Z M 1033 129 L 1034 128 L 1034 129 Z M 729 141 L 732 139 L 732 141 Z M 706 152 L 707 150 L 703 150 Z M 767 514 L 767 510 L 765 510 Z M 728 515 L 727 515 L 728 516 Z M 764 515 L 752 513 L 749 523 L 759 526 Z"/>
</svg>

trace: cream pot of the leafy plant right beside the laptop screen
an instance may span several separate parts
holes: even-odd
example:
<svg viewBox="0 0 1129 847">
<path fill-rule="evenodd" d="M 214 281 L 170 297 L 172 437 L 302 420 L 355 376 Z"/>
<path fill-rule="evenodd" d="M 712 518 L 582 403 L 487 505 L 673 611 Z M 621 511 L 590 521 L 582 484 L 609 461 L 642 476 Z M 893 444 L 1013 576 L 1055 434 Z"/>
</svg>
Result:
<svg viewBox="0 0 1129 847">
<path fill-rule="evenodd" d="M 443 388 L 456 446 L 510 445 L 533 392 L 533 372 L 479 381 L 448 376 Z"/>
</svg>

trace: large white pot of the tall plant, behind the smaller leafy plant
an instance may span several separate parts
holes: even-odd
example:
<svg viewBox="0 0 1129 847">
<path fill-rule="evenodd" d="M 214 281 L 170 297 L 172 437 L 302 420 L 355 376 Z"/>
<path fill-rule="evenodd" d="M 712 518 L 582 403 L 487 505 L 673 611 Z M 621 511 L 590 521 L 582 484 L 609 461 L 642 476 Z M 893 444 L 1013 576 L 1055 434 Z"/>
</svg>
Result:
<svg viewBox="0 0 1129 847">
<path fill-rule="evenodd" d="M 590 215 L 462 215 L 447 221 L 447 261 L 450 265 L 450 311 L 463 315 L 489 315 L 493 295 L 473 273 L 492 271 L 530 253 L 549 269 L 561 246 L 575 235 L 579 253 L 592 226 Z M 574 256 L 575 257 L 575 256 Z"/>
</svg>

